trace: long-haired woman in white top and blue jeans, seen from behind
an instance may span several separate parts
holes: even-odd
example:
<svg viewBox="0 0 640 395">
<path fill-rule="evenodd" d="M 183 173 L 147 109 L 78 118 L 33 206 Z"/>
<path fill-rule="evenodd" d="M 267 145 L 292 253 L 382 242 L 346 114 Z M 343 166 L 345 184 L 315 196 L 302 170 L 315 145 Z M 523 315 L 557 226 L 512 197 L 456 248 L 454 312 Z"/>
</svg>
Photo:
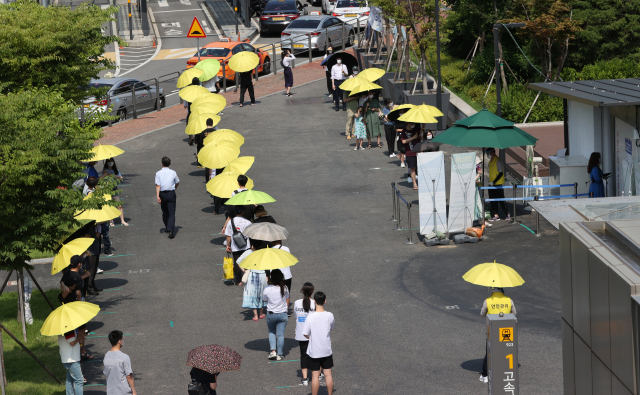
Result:
<svg viewBox="0 0 640 395">
<path fill-rule="evenodd" d="M 267 327 L 269 328 L 269 359 L 281 361 L 284 348 L 284 331 L 287 328 L 289 289 L 284 284 L 284 276 L 278 269 L 269 274 L 269 285 L 262 292 L 267 302 Z"/>
</svg>

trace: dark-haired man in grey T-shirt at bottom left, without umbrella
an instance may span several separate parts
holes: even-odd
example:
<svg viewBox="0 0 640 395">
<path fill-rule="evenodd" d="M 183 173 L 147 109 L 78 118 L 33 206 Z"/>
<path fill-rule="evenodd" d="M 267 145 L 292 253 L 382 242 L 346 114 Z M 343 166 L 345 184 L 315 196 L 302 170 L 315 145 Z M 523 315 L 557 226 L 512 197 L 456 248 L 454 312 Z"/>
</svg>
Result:
<svg viewBox="0 0 640 395">
<path fill-rule="evenodd" d="M 107 351 L 102 359 L 104 364 L 102 373 L 107 376 L 107 395 L 136 395 L 131 358 L 121 351 L 124 346 L 122 332 L 111 331 L 109 343 L 111 343 L 111 350 Z"/>
</svg>

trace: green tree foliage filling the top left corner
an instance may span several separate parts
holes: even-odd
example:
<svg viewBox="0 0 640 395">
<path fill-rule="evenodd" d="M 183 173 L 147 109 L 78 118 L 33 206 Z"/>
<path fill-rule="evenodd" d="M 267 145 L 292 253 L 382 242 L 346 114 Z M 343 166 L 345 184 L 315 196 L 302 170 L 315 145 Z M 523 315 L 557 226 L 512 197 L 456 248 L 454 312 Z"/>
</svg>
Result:
<svg viewBox="0 0 640 395">
<path fill-rule="evenodd" d="M 102 34 L 117 8 L 82 3 L 44 8 L 18 0 L 0 5 L 0 81 L 3 90 L 54 87 L 65 100 L 80 102 L 84 89 L 102 70 L 114 68 L 102 58 L 105 45 L 118 41 Z"/>
</svg>

